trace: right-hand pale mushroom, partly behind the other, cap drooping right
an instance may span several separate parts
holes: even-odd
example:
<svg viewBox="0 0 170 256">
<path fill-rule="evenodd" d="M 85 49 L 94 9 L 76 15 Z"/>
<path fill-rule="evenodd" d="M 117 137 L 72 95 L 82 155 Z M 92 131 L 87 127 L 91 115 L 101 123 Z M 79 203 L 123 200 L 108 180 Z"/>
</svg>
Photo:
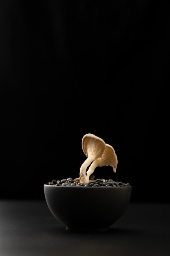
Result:
<svg viewBox="0 0 170 256">
<path fill-rule="evenodd" d="M 109 144 L 106 144 L 104 153 L 102 154 L 102 157 L 99 159 L 96 159 L 91 166 L 89 167 L 87 171 L 87 176 L 90 177 L 90 175 L 94 172 L 95 168 L 97 166 L 105 166 L 105 165 L 110 165 L 113 167 L 113 172 L 116 173 L 117 169 L 117 155 L 115 153 L 115 150 L 112 146 Z"/>
</svg>

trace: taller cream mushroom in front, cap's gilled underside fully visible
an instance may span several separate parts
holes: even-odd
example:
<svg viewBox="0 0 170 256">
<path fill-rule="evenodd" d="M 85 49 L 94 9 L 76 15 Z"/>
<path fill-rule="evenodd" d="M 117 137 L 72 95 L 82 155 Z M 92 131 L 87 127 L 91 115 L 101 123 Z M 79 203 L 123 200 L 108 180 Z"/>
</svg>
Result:
<svg viewBox="0 0 170 256">
<path fill-rule="evenodd" d="M 89 182 L 89 175 L 87 175 L 86 169 L 91 164 L 91 162 L 96 159 L 102 157 L 105 149 L 105 142 L 103 139 L 91 134 L 87 133 L 82 138 L 82 149 L 87 159 L 84 161 L 82 166 L 80 167 L 79 173 L 79 183 Z"/>
</svg>

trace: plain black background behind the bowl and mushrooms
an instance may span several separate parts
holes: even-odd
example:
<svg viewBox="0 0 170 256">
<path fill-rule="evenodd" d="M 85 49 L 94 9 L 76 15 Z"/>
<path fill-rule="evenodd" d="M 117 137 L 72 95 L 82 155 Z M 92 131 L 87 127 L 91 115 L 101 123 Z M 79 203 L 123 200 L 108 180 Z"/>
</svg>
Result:
<svg viewBox="0 0 170 256">
<path fill-rule="evenodd" d="M 0 198 L 78 177 L 82 137 L 115 148 L 95 177 L 168 201 L 168 9 L 153 1 L 1 1 Z"/>
</svg>

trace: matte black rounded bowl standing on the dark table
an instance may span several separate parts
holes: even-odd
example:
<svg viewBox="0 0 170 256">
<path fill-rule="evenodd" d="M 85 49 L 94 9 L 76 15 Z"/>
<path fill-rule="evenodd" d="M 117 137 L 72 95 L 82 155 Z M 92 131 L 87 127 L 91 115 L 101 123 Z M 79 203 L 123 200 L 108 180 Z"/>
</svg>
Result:
<svg viewBox="0 0 170 256">
<path fill-rule="evenodd" d="M 132 186 L 71 187 L 44 184 L 46 203 L 68 230 L 107 230 L 125 212 Z"/>
</svg>

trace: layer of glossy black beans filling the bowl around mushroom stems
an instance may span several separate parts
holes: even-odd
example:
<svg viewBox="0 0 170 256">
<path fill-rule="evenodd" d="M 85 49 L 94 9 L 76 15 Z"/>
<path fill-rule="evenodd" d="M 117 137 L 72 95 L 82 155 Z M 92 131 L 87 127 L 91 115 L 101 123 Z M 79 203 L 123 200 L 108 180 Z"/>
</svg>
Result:
<svg viewBox="0 0 170 256">
<path fill-rule="evenodd" d="M 51 186 L 93 186 L 93 187 L 99 187 L 99 186 L 130 186 L 129 183 L 123 183 L 121 181 L 114 181 L 112 179 L 104 180 L 104 179 L 94 179 L 90 180 L 88 183 L 79 183 L 76 181 L 76 179 L 72 179 L 71 177 L 67 179 L 62 180 L 52 180 L 52 182 L 48 182 L 47 185 Z"/>
</svg>

